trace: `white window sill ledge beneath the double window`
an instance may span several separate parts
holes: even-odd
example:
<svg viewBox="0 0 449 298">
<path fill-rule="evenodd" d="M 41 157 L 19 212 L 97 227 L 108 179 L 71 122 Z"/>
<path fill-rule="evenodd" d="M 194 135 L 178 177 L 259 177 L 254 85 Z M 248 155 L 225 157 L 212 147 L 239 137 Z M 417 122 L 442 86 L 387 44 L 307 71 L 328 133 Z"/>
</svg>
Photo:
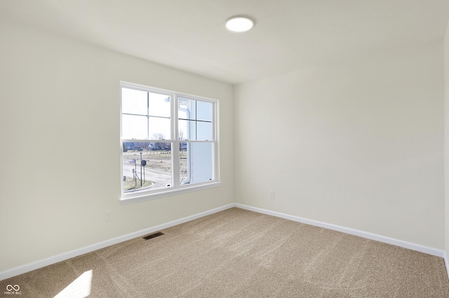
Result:
<svg viewBox="0 0 449 298">
<path fill-rule="evenodd" d="M 180 187 L 177 189 L 161 190 L 154 192 L 141 192 L 138 194 L 128 194 L 122 196 L 120 199 L 121 205 L 127 205 L 132 203 L 138 203 L 142 201 L 154 200 L 156 198 L 164 198 L 166 196 L 175 196 L 177 194 L 186 194 L 192 191 L 199 191 L 202 189 L 210 189 L 213 187 L 220 187 L 222 182 L 209 182 L 206 184 L 195 184 L 191 186 Z"/>
</svg>

